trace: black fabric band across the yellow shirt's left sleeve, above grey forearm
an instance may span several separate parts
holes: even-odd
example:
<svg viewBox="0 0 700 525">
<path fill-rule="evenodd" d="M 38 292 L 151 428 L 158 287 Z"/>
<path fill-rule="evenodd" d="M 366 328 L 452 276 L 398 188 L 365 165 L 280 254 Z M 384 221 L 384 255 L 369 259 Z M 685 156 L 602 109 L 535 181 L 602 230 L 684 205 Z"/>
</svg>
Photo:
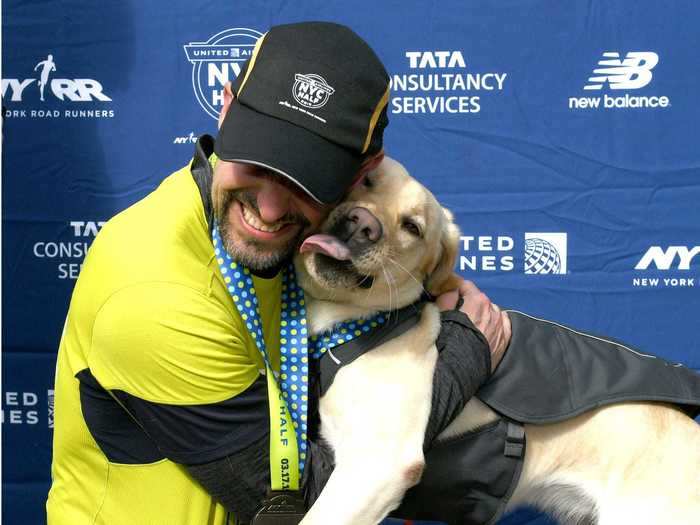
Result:
<svg viewBox="0 0 700 525">
<path fill-rule="evenodd" d="M 107 392 L 88 369 L 77 378 L 88 429 L 115 463 L 168 458 L 197 465 L 234 454 L 269 434 L 262 376 L 235 397 L 201 405 L 153 403 L 120 390 Z"/>
</svg>

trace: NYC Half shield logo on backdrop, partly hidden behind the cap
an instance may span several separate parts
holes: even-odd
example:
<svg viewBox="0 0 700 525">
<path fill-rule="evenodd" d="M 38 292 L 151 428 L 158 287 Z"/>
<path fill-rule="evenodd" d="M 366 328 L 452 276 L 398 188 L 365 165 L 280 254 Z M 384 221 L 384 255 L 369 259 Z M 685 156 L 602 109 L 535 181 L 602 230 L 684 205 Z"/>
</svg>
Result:
<svg viewBox="0 0 700 525">
<path fill-rule="evenodd" d="M 192 88 L 199 105 L 217 119 L 224 103 L 224 85 L 241 72 L 262 33 L 245 27 L 225 29 L 206 42 L 183 46 L 192 63 Z"/>
</svg>

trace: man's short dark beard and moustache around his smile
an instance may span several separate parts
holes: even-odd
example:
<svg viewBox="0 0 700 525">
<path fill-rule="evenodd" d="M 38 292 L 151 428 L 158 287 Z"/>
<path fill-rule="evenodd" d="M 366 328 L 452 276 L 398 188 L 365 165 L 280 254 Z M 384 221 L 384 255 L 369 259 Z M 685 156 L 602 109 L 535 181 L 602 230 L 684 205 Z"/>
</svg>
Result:
<svg viewBox="0 0 700 525">
<path fill-rule="evenodd" d="M 291 261 L 294 253 L 304 238 L 304 232 L 309 221 L 301 214 L 285 215 L 278 222 L 299 224 L 299 233 L 279 248 L 270 249 L 258 239 L 240 239 L 231 231 L 228 222 L 228 212 L 235 201 L 241 206 L 247 206 L 260 217 L 260 210 L 255 195 L 247 190 L 223 191 L 215 188 L 213 199 L 214 217 L 219 225 L 219 233 L 224 248 L 235 261 L 240 262 L 253 273 L 276 273 L 283 264 Z"/>
</svg>

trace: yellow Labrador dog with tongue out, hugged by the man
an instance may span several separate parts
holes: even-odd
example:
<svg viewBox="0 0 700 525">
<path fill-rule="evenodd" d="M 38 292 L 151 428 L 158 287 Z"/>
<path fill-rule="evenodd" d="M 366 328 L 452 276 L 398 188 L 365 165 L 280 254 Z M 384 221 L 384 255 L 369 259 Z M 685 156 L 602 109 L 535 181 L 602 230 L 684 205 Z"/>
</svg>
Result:
<svg viewBox="0 0 700 525">
<path fill-rule="evenodd" d="M 454 285 L 459 231 L 392 159 L 352 191 L 323 230 L 296 260 L 312 334 L 409 305 L 424 288 L 437 294 Z M 409 331 L 338 371 L 320 401 L 321 434 L 336 466 L 304 525 L 376 524 L 419 481 L 439 330 L 437 308 L 428 304 Z M 496 417 L 473 398 L 439 439 Z M 644 403 L 526 425 L 524 466 L 508 508 L 532 504 L 563 523 L 700 523 L 699 429 L 675 408 Z"/>
</svg>

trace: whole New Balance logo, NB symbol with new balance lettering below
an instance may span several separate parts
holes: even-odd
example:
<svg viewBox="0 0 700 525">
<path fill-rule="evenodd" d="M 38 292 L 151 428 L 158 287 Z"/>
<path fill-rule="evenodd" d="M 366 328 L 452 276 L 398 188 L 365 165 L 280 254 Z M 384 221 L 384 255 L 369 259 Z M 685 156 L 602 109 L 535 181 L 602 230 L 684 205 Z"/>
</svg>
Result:
<svg viewBox="0 0 700 525">
<path fill-rule="evenodd" d="M 649 85 L 659 55 L 652 51 L 629 51 L 624 57 L 617 51 L 606 51 L 583 86 L 584 91 L 633 91 Z M 666 108 L 667 96 L 647 96 L 626 93 L 621 96 L 570 97 L 569 109 L 631 109 Z"/>
</svg>

